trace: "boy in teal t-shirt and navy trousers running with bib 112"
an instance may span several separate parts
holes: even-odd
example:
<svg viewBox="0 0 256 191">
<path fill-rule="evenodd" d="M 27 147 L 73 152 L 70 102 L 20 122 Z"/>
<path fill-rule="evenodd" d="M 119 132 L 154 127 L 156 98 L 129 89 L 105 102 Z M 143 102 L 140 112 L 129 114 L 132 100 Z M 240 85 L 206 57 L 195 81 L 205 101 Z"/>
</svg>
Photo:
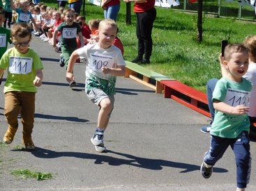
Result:
<svg viewBox="0 0 256 191">
<path fill-rule="evenodd" d="M 243 44 L 229 44 L 222 60 L 227 74 L 213 91 L 215 117 L 211 126 L 211 147 L 204 154 L 201 174 L 209 178 L 213 165 L 232 147 L 236 159 L 236 190 L 246 189 L 250 178 L 250 121 L 248 102 L 252 85 L 243 78 L 248 70 L 248 50 Z"/>
</svg>

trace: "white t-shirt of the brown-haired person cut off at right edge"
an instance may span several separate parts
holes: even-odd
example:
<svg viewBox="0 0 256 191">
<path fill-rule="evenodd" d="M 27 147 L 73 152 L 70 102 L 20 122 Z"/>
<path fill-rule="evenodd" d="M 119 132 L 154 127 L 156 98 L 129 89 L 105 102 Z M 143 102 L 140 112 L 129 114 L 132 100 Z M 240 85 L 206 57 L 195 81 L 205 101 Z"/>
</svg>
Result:
<svg viewBox="0 0 256 191">
<path fill-rule="evenodd" d="M 248 115 L 250 117 L 256 117 L 256 63 L 250 63 L 248 71 L 243 75 L 250 83 L 252 83 L 252 90 L 250 92 L 249 107 L 250 111 Z"/>
</svg>

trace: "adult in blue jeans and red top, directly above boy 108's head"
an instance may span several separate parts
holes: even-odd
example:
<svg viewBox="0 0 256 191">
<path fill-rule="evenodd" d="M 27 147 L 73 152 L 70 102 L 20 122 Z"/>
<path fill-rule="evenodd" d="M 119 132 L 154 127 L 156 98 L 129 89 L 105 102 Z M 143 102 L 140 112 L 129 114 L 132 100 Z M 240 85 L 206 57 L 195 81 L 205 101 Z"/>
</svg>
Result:
<svg viewBox="0 0 256 191">
<path fill-rule="evenodd" d="M 120 0 L 102 0 L 101 8 L 104 10 L 105 19 L 113 19 L 116 21 L 120 10 Z"/>
</svg>

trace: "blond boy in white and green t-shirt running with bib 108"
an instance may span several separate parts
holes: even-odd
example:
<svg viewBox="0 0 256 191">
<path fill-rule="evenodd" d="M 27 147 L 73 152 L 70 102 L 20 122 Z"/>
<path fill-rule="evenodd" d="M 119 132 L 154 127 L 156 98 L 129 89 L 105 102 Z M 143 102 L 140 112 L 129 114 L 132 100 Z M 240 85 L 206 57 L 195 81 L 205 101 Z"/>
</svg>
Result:
<svg viewBox="0 0 256 191">
<path fill-rule="evenodd" d="M 74 81 L 75 60 L 80 56 L 86 58 L 85 92 L 87 97 L 100 107 L 97 128 L 91 138 L 98 152 L 106 151 L 103 133 L 114 108 L 116 76 L 124 76 L 126 69 L 121 51 L 112 45 L 116 38 L 116 31 L 117 26 L 114 20 L 101 21 L 97 30 L 99 41 L 74 51 L 70 56 L 66 74 L 67 81 Z"/>
</svg>

